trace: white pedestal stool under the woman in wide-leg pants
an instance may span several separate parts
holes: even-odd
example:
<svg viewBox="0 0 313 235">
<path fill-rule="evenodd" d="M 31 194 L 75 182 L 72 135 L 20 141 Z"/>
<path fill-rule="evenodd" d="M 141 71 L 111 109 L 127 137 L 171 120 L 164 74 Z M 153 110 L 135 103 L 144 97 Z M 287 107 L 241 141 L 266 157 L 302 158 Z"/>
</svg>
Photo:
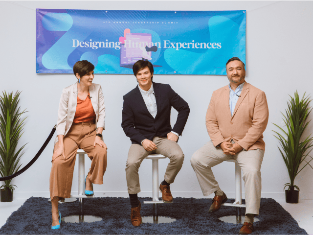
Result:
<svg viewBox="0 0 313 235">
<path fill-rule="evenodd" d="M 70 195 L 71 198 L 78 198 L 78 215 L 69 215 L 62 217 L 62 221 L 66 223 L 78 222 L 95 222 L 102 220 L 99 216 L 84 215 L 84 198 L 92 198 L 92 196 L 85 195 L 85 154 L 84 150 L 78 149 L 78 195 Z"/>
</svg>

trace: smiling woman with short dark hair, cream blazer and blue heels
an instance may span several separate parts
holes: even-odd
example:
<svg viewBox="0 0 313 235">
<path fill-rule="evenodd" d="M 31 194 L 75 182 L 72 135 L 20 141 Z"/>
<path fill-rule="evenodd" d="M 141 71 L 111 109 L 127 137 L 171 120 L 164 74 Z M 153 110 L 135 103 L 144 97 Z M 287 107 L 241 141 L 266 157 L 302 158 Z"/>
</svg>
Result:
<svg viewBox="0 0 313 235">
<path fill-rule="evenodd" d="M 59 198 L 69 198 L 77 150 L 88 153 L 91 166 L 85 180 L 85 194 L 93 195 L 92 184 L 103 184 L 107 167 L 107 146 L 102 139 L 105 105 L 101 86 L 92 83 L 94 66 L 87 60 L 76 62 L 73 72 L 78 81 L 63 89 L 56 127 L 50 197 L 52 229 L 59 229 Z"/>
</svg>

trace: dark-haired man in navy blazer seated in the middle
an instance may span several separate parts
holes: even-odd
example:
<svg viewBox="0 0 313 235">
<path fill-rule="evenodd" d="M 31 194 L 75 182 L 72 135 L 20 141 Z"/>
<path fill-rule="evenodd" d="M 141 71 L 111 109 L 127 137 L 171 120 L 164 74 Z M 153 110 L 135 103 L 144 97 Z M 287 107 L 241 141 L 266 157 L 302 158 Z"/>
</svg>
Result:
<svg viewBox="0 0 313 235">
<path fill-rule="evenodd" d="M 126 163 L 126 180 L 131 199 L 131 220 L 134 226 L 142 223 L 137 193 L 140 192 L 138 169 L 148 154 L 162 154 L 170 159 L 164 181 L 160 184 L 162 201 L 172 203 L 170 184 L 174 182 L 184 159 L 177 141 L 189 116 L 189 106 L 170 85 L 152 82 L 153 65 L 139 60 L 133 66 L 138 86 L 124 95 L 122 128 L 132 145 Z M 178 111 L 171 127 L 171 109 Z"/>
</svg>

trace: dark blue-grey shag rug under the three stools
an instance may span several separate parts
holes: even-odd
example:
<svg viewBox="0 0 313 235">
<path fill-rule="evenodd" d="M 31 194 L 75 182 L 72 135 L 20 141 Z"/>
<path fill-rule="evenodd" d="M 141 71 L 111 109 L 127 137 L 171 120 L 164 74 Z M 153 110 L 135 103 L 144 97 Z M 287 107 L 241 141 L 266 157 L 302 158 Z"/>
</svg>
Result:
<svg viewBox="0 0 313 235">
<path fill-rule="evenodd" d="M 141 216 L 152 215 L 153 205 L 143 204 Z M 103 219 L 93 223 L 61 222 L 61 229 L 51 230 L 51 203 L 47 198 L 31 197 L 14 211 L 0 235 L 237 235 L 242 224 L 225 223 L 219 217 L 235 215 L 233 207 L 222 207 L 209 214 L 212 199 L 174 198 L 173 204 L 159 204 L 158 214 L 177 220 L 173 223 L 145 223 L 134 227 L 130 219 L 130 200 L 121 197 L 85 199 L 85 214 Z M 232 203 L 234 199 L 228 199 Z M 245 200 L 243 200 L 243 203 Z M 78 201 L 59 204 L 62 216 L 78 214 Z M 245 209 L 242 210 L 243 214 Z M 308 235 L 275 200 L 261 198 L 260 221 L 252 235 Z"/>
</svg>

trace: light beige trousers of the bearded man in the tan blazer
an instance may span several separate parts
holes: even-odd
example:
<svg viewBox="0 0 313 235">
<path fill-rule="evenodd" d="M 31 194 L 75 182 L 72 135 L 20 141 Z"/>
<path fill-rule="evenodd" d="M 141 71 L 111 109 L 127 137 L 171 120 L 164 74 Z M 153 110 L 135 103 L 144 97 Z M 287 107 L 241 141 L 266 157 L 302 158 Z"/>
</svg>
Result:
<svg viewBox="0 0 313 235">
<path fill-rule="evenodd" d="M 208 196 L 218 190 L 219 184 L 214 178 L 211 167 L 235 159 L 243 171 L 245 181 L 246 214 L 259 214 L 261 200 L 261 164 L 264 150 L 242 150 L 236 155 L 225 155 L 222 148 L 214 147 L 212 141 L 198 149 L 190 160 L 194 168 L 202 193 Z M 226 173 L 227 174 L 227 173 Z M 228 175 L 232 179 L 233 175 Z"/>
</svg>

